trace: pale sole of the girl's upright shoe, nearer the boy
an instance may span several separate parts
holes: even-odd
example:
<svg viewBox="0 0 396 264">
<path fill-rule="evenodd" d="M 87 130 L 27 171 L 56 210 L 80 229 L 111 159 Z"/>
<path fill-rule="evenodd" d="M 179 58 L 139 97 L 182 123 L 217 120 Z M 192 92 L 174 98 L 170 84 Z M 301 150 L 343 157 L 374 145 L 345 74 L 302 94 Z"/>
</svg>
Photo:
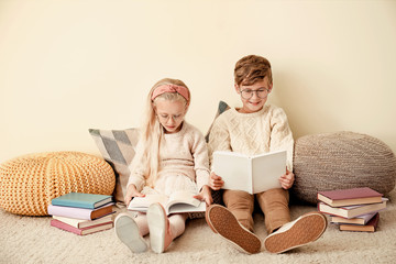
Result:
<svg viewBox="0 0 396 264">
<path fill-rule="evenodd" d="M 161 205 L 154 204 L 148 207 L 147 222 L 150 245 L 155 253 L 163 253 L 165 250 L 166 213 Z"/>
</svg>

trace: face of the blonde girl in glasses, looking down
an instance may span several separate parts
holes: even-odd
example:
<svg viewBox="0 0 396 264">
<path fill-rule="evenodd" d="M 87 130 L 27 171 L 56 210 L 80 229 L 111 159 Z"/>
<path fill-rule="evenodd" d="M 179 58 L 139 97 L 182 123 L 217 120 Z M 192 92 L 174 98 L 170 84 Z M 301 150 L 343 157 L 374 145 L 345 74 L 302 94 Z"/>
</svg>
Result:
<svg viewBox="0 0 396 264">
<path fill-rule="evenodd" d="M 187 106 L 184 101 L 158 99 L 155 101 L 154 110 L 160 123 L 165 129 L 165 133 L 172 134 L 180 131 L 182 122 L 187 112 Z"/>
</svg>

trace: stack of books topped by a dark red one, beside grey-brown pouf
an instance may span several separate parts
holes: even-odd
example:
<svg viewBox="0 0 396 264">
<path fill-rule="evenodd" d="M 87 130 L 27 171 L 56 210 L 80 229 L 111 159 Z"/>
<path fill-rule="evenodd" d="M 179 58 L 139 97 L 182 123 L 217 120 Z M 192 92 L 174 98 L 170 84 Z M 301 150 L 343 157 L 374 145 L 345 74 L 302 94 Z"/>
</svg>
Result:
<svg viewBox="0 0 396 264">
<path fill-rule="evenodd" d="M 330 216 L 342 231 L 375 232 L 386 198 L 369 187 L 318 193 L 318 211 Z"/>
</svg>

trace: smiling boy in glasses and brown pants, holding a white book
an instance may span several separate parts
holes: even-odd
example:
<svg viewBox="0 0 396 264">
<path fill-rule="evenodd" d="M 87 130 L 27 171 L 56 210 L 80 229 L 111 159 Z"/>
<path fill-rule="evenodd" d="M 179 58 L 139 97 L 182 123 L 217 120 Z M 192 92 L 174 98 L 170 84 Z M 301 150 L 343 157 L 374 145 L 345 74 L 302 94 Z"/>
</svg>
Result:
<svg viewBox="0 0 396 264">
<path fill-rule="evenodd" d="M 310 212 L 290 222 L 288 189 L 293 186 L 294 140 L 287 117 L 283 109 L 265 105 L 273 88 L 270 62 L 261 56 L 250 55 L 235 64 L 234 88 L 240 95 L 242 108 L 230 109 L 213 122 L 209 136 L 209 156 L 215 151 L 233 151 L 255 155 L 286 150 L 286 174 L 280 176 L 282 188 L 270 189 L 256 195 L 242 190 L 226 189 L 226 207 L 212 205 L 206 220 L 213 232 L 219 233 L 246 253 L 261 251 L 261 240 L 253 233 L 254 199 L 265 217 L 270 234 L 264 246 L 272 253 L 282 253 L 301 246 L 321 237 L 327 228 L 326 217 Z M 244 177 L 244 175 L 241 175 Z M 221 175 L 210 175 L 210 187 L 219 190 L 223 186 Z"/>
</svg>

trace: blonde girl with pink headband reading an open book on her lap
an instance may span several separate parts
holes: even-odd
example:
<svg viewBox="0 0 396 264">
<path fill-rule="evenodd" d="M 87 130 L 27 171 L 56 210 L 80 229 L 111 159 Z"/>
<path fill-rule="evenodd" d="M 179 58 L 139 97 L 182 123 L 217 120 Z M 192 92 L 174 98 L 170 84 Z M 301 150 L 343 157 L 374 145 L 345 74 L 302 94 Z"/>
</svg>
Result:
<svg viewBox="0 0 396 264">
<path fill-rule="evenodd" d="M 182 80 L 165 78 L 151 89 L 146 120 L 130 165 L 131 175 L 124 197 L 127 206 L 133 197 L 147 194 L 169 196 L 177 190 L 189 190 L 207 205 L 212 202 L 204 135 L 184 121 L 189 103 L 190 92 Z M 162 253 L 185 231 L 186 219 L 187 213 L 167 218 L 164 208 L 153 204 L 146 215 L 138 213 L 132 218 L 120 213 L 114 229 L 121 242 L 132 252 L 147 250 L 143 237 L 150 233 L 152 250 Z"/>
</svg>

